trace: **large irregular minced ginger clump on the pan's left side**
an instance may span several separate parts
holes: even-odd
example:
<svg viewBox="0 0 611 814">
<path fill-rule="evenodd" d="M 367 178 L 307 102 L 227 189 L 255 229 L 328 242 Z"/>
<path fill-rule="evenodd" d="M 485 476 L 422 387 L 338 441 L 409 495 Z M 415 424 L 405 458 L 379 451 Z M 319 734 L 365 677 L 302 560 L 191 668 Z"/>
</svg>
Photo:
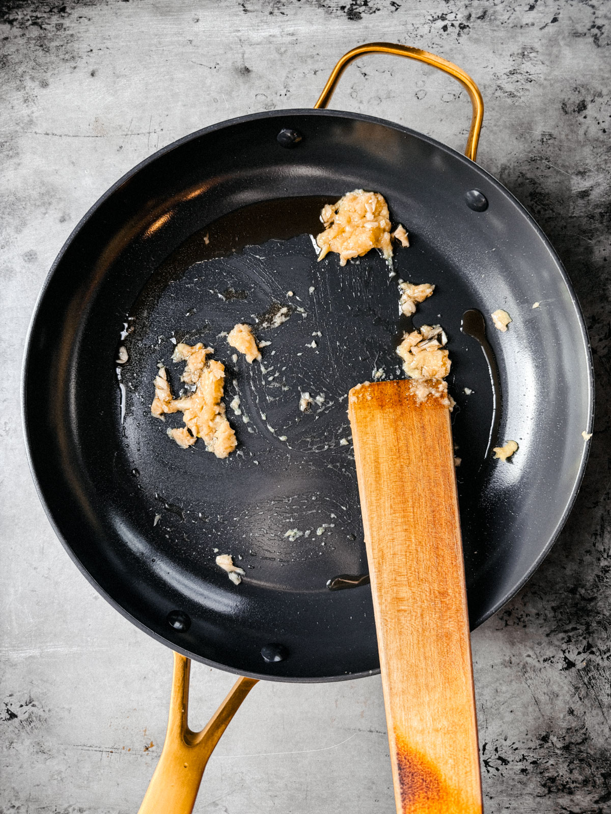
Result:
<svg viewBox="0 0 611 814">
<path fill-rule="evenodd" d="M 161 367 L 155 379 L 155 399 L 151 413 L 163 418 L 165 413 L 182 411 L 185 427 L 169 429 L 168 435 L 178 446 L 187 449 L 204 440 L 206 449 L 216 457 L 224 458 L 232 453 L 237 442 L 225 416 L 222 394 L 225 379 L 225 365 L 215 359 L 208 359 L 212 348 L 204 348 L 201 343 L 191 345 L 179 343 L 174 348 L 172 361 L 185 361 L 181 381 L 195 386 L 195 392 L 185 398 L 174 399 L 169 387 L 165 367 Z"/>
</svg>

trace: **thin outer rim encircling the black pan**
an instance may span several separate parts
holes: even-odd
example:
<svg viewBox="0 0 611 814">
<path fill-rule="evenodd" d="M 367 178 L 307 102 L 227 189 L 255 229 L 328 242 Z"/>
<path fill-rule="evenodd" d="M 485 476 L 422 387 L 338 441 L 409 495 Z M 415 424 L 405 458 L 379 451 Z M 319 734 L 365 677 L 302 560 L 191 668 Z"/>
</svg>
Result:
<svg viewBox="0 0 611 814">
<path fill-rule="evenodd" d="M 314 676 L 314 677 L 295 677 L 295 676 L 270 676 L 268 674 L 262 674 L 257 672 L 248 672 L 237 670 L 233 667 L 228 667 L 225 664 L 221 664 L 218 662 L 214 662 L 210 659 L 204 659 L 202 656 L 198 654 L 192 653 L 190 650 L 182 648 L 175 644 L 169 639 L 161 636 L 159 633 L 153 631 L 151 628 L 144 624 L 139 619 L 136 619 L 133 615 L 130 614 L 129 611 L 125 610 L 116 600 L 114 600 L 95 580 L 95 577 L 86 569 L 83 565 L 81 560 L 75 554 L 72 546 L 68 543 L 68 540 L 64 537 L 62 532 L 59 531 L 59 527 L 55 523 L 55 519 L 51 513 L 51 508 L 46 501 L 46 497 L 42 492 L 42 487 L 40 481 L 38 479 L 36 466 L 33 461 L 33 453 L 32 453 L 32 444 L 30 439 L 30 432 L 29 432 L 29 423 L 28 423 L 28 396 L 27 396 L 27 389 L 28 389 L 28 374 L 29 374 L 29 361 L 32 352 L 32 341 L 33 341 L 33 333 L 36 328 L 37 317 L 40 311 L 40 307 L 42 304 L 42 300 L 46 295 L 47 288 L 49 287 L 49 283 L 51 282 L 51 278 L 55 274 L 55 270 L 58 268 L 59 264 L 64 258 L 64 254 L 68 251 L 68 247 L 73 243 L 73 240 L 77 237 L 77 234 L 81 231 L 82 227 L 86 224 L 87 221 L 90 220 L 91 217 L 94 217 L 95 212 L 105 203 L 105 201 L 110 198 L 116 190 L 118 190 L 125 182 L 129 181 L 130 178 L 134 177 L 141 169 L 147 167 L 147 165 L 152 164 L 154 161 L 159 159 L 162 155 L 168 154 L 170 151 L 173 151 L 175 148 L 181 147 L 183 144 L 191 142 L 196 138 L 200 138 L 208 133 L 214 133 L 218 130 L 225 129 L 227 127 L 235 126 L 235 125 L 242 125 L 246 124 L 251 121 L 255 120 L 262 120 L 262 119 L 282 119 L 285 116 L 331 116 L 334 118 L 345 118 L 350 120 L 356 121 L 364 121 L 376 125 L 382 125 L 389 129 L 397 130 L 400 133 L 405 133 L 413 138 L 418 138 L 420 141 L 426 142 L 430 144 L 432 147 L 436 147 L 439 150 L 446 152 L 447 154 L 451 155 L 454 159 L 458 159 L 463 164 L 469 166 L 471 169 L 475 169 L 481 177 L 486 179 L 486 182 L 489 182 L 497 190 L 499 193 L 503 195 L 508 201 L 516 207 L 523 217 L 526 218 L 526 221 L 530 225 L 531 228 L 534 228 L 534 232 L 537 234 L 538 238 L 543 242 L 543 245 L 547 248 L 547 251 L 552 256 L 552 260 L 556 263 L 557 269 L 560 272 L 560 276 L 565 283 L 567 291 L 570 296 L 571 303 L 575 309 L 576 315 L 578 317 L 578 324 L 580 329 L 580 335 L 582 339 L 582 347 L 583 351 L 585 352 L 585 357 L 587 360 L 587 368 L 588 368 L 588 376 L 587 376 L 587 414 L 588 414 L 588 426 L 587 431 L 591 431 L 593 418 L 594 418 L 594 411 L 595 411 L 595 381 L 594 381 L 594 370 L 592 364 L 592 353 L 591 353 L 591 345 L 589 341 L 589 337 L 587 334 L 587 327 L 585 324 L 585 320 L 583 317 L 582 309 L 579 304 L 578 296 L 574 291 L 574 287 L 572 282 L 569 279 L 568 274 L 566 273 L 566 269 L 560 260 L 556 250 L 552 246 L 552 243 L 547 239 L 546 234 L 544 234 L 541 227 L 538 223 L 534 220 L 534 217 L 530 215 L 530 212 L 525 208 L 523 204 L 520 203 L 518 199 L 516 199 L 515 195 L 512 194 L 507 187 L 503 186 L 494 176 L 486 171 L 486 169 L 482 168 L 476 162 L 468 159 L 465 155 L 462 155 L 452 147 L 448 147 L 446 144 L 442 142 L 438 142 L 436 139 L 431 138 L 430 136 L 424 135 L 424 133 L 419 133 L 417 130 L 411 129 L 406 127 L 405 125 L 399 125 L 395 122 L 380 119 L 376 116 L 368 116 L 362 113 L 356 112 L 349 112 L 349 111 L 341 111 L 341 110 L 317 110 L 317 109 L 310 109 L 310 108 L 288 108 L 288 109 L 281 109 L 281 110 L 274 110 L 274 111 L 264 111 L 264 112 L 257 112 L 251 113 L 247 116 L 237 116 L 232 119 L 223 120 L 221 122 L 217 122 L 213 125 L 209 125 L 208 127 L 204 127 L 202 129 L 196 130 L 193 133 L 189 133 L 182 138 L 177 139 L 174 142 L 169 143 L 165 147 L 162 147 L 160 150 L 152 153 L 152 155 L 148 155 L 147 158 L 143 159 L 141 162 L 136 164 L 134 167 L 130 168 L 127 173 L 124 173 L 112 186 L 106 190 L 103 195 L 99 197 L 95 201 L 94 204 L 87 210 L 87 212 L 81 217 L 81 219 L 77 222 L 77 225 L 73 228 L 73 230 L 68 235 L 68 238 L 64 241 L 62 247 L 60 248 L 55 260 L 53 261 L 51 268 L 49 269 L 48 273 L 46 274 L 46 278 L 42 283 L 41 290 L 37 295 L 37 300 L 33 307 L 33 312 L 30 317 L 29 327 L 26 334 L 25 339 L 25 350 L 24 350 L 24 357 L 21 367 L 21 383 L 20 383 L 20 412 L 21 412 L 21 422 L 24 431 L 24 445 L 26 451 L 26 457 L 28 461 L 28 466 L 30 470 L 30 474 L 32 475 L 34 486 L 37 491 L 37 496 L 42 503 L 42 507 L 45 511 L 46 517 L 49 520 L 55 535 L 59 538 L 59 542 L 63 545 L 64 549 L 68 553 L 68 556 L 72 559 L 74 564 L 77 566 L 78 570 L 81 571 L 81 574 L 85 576 L 86 580 L 91 584 L 91 586 L 102 596 L 110 606 L 114 610 L 117 610 L 125 619 L 128 619 L 132 624 L 134 624 L 137 628 L 146 632 L 149 636 L 151 636 L 156 641 L 164 644 L 165 646 L 169 646 L 172 650 L 176 650 L 177 652 L 187 656 L 188 658 L 195 659 L 200 663 L 207 664 L 209 667 L 216 667 L 224 672 L 231 672 L 235 675 L 241 676 L 248 676 L 251 678 L 265 680 L 265 681 L 284 681 L 288 683 L 323 683 L 329 681 L 348 681 L 356 678 L 363 678 L 366 676 L 375 675 L 376 673 L 380 672 L 380 667 L 372 670 L 365 670 L 363 672 L 346 672 L 341 675 L 333 675 L 333 676 Z M 577 470 L 577 473 L 574 477 L 574 484 L 571 490 L 571 495 L 569 501 L 566 502 L 565 508 L 560 516 L 560 519 L 557 521 L 556 526 L 552 532 L 552 535 L 547 540 L 546 545 L 543 546 L 541 549 L 540 554 L 538 557 L 534 559 L 534 562 L 530 566 L 530 568 L 525 572 L 524 575 L 521 576 L 519 580 L 512 585 L 511 589 L 505 593 L 505 595 L 499 599 L 498 602 L 495 603 L 495 606 L 490 607 L 486 613 L 481 614 L 474 623 L 472 630 L 478 628 L 481 624 L 483 624 L 487 619 L 490 619 L 492 615 L 495 615 L 498 610 L 500 610 L 504 605 L 506 605 L 510 600 L 516 596 L 522 588 L 524 588 L 525 584 L 530 580 L 530 578 L 534 575 L 534 572 L 537 571 L 538 567 L 541 565 L 543 560 L 547 557 L 547 554 L 551 551 L 553 545 L 556 543 L 562 528 L 565 526 L 565 523 L 569 517 L 571 510 L 573 510 L 574 503 L 576 501 L 579 488 L 582 485 L 583 475 L 585 473 L 588 457 L 590 452 L 590 443 L 585 442 L 583 444 L 581 461 Z"/>
</svg>

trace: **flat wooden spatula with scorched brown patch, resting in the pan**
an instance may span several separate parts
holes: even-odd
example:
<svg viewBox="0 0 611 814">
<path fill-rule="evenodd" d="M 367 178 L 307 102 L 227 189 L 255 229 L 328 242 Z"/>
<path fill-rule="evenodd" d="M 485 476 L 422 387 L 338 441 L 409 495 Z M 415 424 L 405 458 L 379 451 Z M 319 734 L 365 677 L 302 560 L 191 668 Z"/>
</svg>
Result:
<svg viewBox="0 0 611 814">
<path fill-rule="evenodd" d="M 349 392 L 399 814 L 482 811 L 454 448 L 438 381 Z"/>
</svg>

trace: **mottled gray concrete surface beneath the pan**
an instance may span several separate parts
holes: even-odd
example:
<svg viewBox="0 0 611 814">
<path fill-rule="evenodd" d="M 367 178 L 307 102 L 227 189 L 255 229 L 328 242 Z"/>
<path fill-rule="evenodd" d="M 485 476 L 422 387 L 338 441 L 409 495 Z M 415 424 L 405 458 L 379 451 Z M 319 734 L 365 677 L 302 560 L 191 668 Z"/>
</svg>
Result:
<svg viewBox="0 0 611 814">
<path fill-rule="evenodd" d="M 420 46 L 476 78 L 479 161 L 562 256 L 594 348 L 591 461 L 559 542 L 473 635 L 486 812 L 611 811 L 609 4 L 604 0 L 0 2 L 0 812 L 128 814 L 165 733 L 171 654 L 117 615 L 55 539 L 25 461 L 20 360 L 37 292 L 87 208 L 132 165 L 231 116 L 314 103 L 336 58 Z M 336 107 L 463 147 L 450 79 L 363 59 Z M 196 665 L 193 724 L 231 676 Z M 392 812 L 380 680 L 261 684 L 196 812 Z"/>
</svg>

